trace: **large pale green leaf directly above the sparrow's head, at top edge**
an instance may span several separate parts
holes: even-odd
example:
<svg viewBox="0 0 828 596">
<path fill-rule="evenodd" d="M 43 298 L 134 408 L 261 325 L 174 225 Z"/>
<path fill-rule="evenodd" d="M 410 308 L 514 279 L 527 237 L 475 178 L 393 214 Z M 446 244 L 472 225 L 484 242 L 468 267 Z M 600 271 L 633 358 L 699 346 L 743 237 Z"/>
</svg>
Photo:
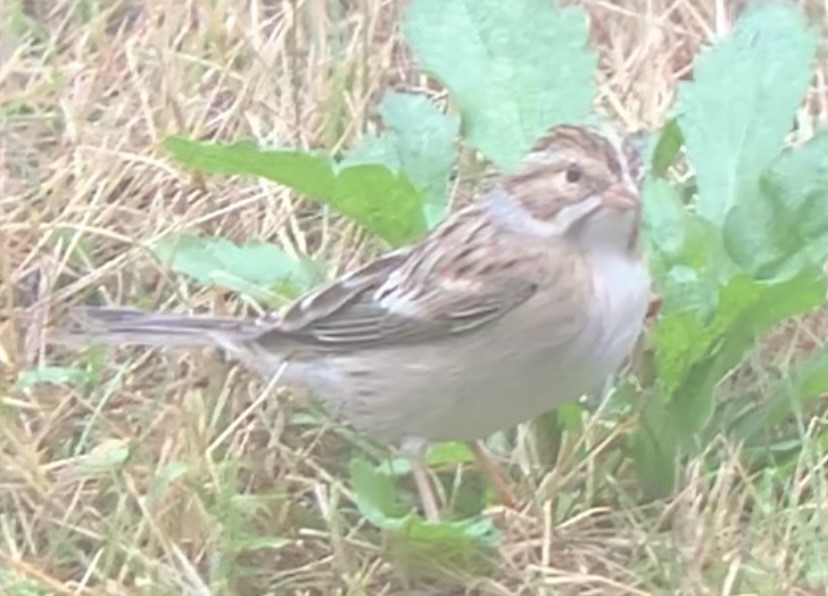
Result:
<svg viewBox="0 0 828 596">
<path fill-rule="evenodd" d="M 546 129 L 586 117 L 596 58 L 587 18 L 549 0 L 414 0 L 403 32 L 442 81 L 466 140 L 501 169 L 515 166 Z"/>
</svg>

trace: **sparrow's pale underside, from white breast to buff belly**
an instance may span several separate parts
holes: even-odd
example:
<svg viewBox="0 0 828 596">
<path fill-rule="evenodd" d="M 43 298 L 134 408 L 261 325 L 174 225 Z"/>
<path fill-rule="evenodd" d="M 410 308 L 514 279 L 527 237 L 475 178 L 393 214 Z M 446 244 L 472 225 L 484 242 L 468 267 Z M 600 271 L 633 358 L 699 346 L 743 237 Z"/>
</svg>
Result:
<svg viewBox="0 0 828 596">
<path fill-rule="evenodd" d="M 537 336 L 527 342 L 526 330 L 503 320 L 499 331 L 477 338 L 378 351 L 370 366 L 340 361 L 335 369 L 363 372 L 344 384 L 344 400 L 329 401 L 357 428 L 399 442 L 478 439 L 578 399 L 601 387 L 641 331 L 646 272 L 622 265 L 615 273 L 606 285 L 596 283 L 588 320 L 566 344 L 544 346 Z M 619 280 L 628 284 L 624 291 Z"/>
</svg>

